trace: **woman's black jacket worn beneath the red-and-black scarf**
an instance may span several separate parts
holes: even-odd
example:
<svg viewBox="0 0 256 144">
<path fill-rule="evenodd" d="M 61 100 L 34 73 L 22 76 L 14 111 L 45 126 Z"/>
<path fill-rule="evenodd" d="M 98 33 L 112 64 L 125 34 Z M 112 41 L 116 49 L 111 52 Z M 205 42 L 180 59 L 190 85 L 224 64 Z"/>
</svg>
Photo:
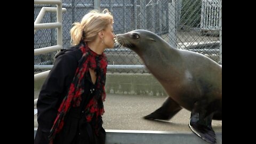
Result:
<svg viewBox="0 0 256 144">
<path fill-rule="evenodd" d="M 38 129 L 34 141 L 35 144 L 49 143 L 48 135 L 57 116 L 58 108 L 68 92 L 69 86 L 73 80 L 75 71 L 78 66 L 78 61 L 81 59 L 81 57 L 82 52 L 78 50 L 78 46 L 71 47 L 67 50 L 62 50 L 55 56 L 54 65 L 49 75 L 45 79 L 45 82 L 38 96 Z M 90 77 L 90 73 L 87 73 L 86 75 L 89 75 Z M 90 124 L 88 125 L 85 123 L 81 117 L 83 114 L 83 108 L 91 99 L 90 89 L 94 88 L 94 84 L 92 83 L 91 78 L 86 79 L 86 76 L 84 81 L 85 89 L 84 93 L 82 94 L 81 106 L 70 108 L 69 113 L 65 116 L 65 125 L 63 126 L 61 132 L 56 135 L 54 143 L 74 143 L 73 140 L 81 136 L 81 131 L 87 131 L 85 132 L 85 135 L 82 135 L 83 139 L 90 138 L 88 134 L 90 135 L 90 132 L 92 132 L 90 131 L 91 126 Z M 87 126 L 81 129 L 81 127 L 83 127 L 81 124 Z M 102 133 L 105 133 L 103 128 Z M 91 137 L 94 137 L 94 135 Z M 105 136 L 103 139 L 105 141 Z M 94 143 L 94 140 L 85 141 L 92 141 L 92 143 Z"/>
</svg>

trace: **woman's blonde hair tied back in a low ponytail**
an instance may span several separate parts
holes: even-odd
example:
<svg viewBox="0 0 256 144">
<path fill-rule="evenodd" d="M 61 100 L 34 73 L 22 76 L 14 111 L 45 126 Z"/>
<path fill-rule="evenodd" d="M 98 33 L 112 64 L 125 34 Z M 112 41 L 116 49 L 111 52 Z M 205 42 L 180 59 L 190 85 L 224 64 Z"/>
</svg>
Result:
<svg viewBox="0 0 256 144">
<path fill-rule="evenodd" d="M 73 23 L 70 29 L 71 44 L 77 45 L 82 39 L 84 42 L 92 42 L 101 30 L 113 23 L 113 15 L 108 9 L 103 10 L 102 13 L 92 10 L 84 15 L 81 22 Z"/>
</svg>

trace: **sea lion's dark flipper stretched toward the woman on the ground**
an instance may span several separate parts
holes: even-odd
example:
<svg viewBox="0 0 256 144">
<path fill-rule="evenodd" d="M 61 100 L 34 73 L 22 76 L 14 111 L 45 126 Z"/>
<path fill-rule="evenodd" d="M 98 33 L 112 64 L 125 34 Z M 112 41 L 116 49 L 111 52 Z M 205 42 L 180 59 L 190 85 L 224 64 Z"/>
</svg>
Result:
<svg viewBox="0 0 256 144">
<path fill-rule="evenodd" d="M 147 116 L 144 116 L 144 118 L 150 119 L 150 120 L 154 120 L 154 119 L 169 120 L 175 114 L 177 114 L 181 109 L 182 108 L 177 102 L 175 102 L 173 99 L 168 97 L 160 108 L 155 110 L 153 113 Z"/>
</svg>

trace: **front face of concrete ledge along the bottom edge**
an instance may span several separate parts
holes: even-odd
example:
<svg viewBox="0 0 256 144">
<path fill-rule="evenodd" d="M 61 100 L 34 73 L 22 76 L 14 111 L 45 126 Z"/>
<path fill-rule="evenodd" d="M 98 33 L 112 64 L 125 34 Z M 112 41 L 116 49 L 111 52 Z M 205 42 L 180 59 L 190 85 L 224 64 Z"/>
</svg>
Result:
<svg viewBox="0 0 256 144">
<path fill-rule="evenodd" d="M 34 138 L 37 128 L 34 128 Z M 209 144 L 193 132 L 106 130 L 106 144 Z M 217 143 L 222 143 L 222 133 L 216 133 Z"/>
</svg>

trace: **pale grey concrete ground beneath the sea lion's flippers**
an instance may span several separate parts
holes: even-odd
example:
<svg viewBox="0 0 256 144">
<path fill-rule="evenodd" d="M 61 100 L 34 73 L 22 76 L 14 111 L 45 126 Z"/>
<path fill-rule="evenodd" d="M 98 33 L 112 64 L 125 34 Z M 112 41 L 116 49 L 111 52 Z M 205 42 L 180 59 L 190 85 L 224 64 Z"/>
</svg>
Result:
<svg viewBox="0 0 256 144">
<path fill-rule="evenodd" d="M 34 98 L 38 97 L 35 91 Z M 190 111 L 182 109 L 170 121 L 148 121 L 142 117 L 161 107 L 165 97 L 107 94 L 104 102 L 103 127 L 106 130 L 149 130 L 191 132 L 188 127 Z M 37 127 L 37 115 L 34 127 Z M 222 121 L 213 121 L 215 132 L 222 132 Z"/>
</svg>

